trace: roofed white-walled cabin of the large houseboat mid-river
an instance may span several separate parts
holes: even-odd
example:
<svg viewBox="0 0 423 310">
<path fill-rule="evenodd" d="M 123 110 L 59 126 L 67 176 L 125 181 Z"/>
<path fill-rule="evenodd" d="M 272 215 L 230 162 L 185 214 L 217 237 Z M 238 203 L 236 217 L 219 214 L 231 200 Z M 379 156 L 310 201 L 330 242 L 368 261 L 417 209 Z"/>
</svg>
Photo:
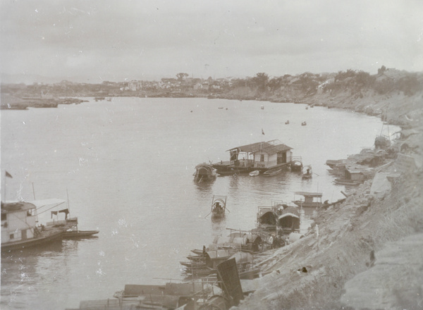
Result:
<svg viewBox="0 0 423 310">
<path fill-rule="evenodd" d="M 271 140 L 234 147 L 228 151 L 233 166 L 274 168 L 283 163 L 290 163 L 292 160 L 291 149 L 279 140 Z"/>
</svg>

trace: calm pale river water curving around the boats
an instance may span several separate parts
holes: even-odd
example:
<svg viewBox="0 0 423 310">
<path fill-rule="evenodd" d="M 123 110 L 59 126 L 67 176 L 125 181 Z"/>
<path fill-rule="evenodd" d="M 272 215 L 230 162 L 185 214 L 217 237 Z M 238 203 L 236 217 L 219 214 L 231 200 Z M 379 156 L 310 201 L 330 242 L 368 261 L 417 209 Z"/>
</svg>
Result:
<svg viewBox="0 0 423 310">
<path fill-rule="evenodd" d="M 2 177 L 2 200 L 5 192 L 7 200 L 68 196 L 79 228 L 100 230 L 97 239 L 2 253 L 1 309 L 77 308 L 81 300 L 111 298 L 125 284 L 183 279 L 179 261 L 190 249 L 227 235 L 226 228 L 254 228 L 257 206 L 290 202 L 299 190 L 342 198 L 345 187 L 333 185 L 326 159 L 372 147 L 382 128 L 378 118 L 303 104 L 89 100 L 1 111 L 1 173 L 13 175 L 6 187 Z M 227 149 L 274 139 L 312 165 L 312 180 L 286 172 L 192 182 L 198 163 L 227 160 Z M 220 223 L 204 218 L 214 194 L 226 195 L 231 211 Z"/>
</svg>

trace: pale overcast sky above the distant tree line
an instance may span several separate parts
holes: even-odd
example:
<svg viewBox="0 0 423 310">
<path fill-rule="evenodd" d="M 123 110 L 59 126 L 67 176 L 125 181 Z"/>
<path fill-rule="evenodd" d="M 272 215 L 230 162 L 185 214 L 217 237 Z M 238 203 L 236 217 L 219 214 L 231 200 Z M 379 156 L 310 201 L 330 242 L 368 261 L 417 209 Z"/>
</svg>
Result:
<svg viewBox="0 0 423 310">
<path fill-rule="evenodd" d="M 0 0 L 1 73 L 80 82 L 423 71 L 421 0 Z"/>
</svg>

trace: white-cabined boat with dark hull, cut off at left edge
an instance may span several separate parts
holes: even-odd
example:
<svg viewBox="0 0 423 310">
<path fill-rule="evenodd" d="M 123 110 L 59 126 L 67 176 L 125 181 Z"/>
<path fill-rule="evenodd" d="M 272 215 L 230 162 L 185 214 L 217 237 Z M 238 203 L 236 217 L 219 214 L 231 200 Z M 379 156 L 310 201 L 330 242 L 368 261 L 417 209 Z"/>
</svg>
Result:
<svg viewBox="0 0 423 310">
<path fill-rule="evenodd" d="M 50 204 L 63 202 L 60 199 L 49 199 Z M 1 202 L 1 252 L 61 240 L 66 227 L 37 225 L 36 210 L 35 202 Z"/>
</svg>

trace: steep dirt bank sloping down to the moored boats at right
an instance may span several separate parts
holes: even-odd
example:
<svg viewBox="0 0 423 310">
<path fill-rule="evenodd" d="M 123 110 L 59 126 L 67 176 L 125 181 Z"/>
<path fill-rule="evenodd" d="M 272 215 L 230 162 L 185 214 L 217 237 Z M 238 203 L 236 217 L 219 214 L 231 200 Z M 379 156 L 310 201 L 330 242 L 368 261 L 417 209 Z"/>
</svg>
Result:
<svg viewBox="0 0 423 310">
<path fill-rule="evenodd" d="M 422 309 L 422 93 L 302 102 L 380 115 L 407 130 L 394 144 L 398 157 L 377 168 L 388 190 L 368 180 L 344 204 L 319 211 L 317 229 L 279 249 L 273 272 L 238 308 Z"/>
</svg>

